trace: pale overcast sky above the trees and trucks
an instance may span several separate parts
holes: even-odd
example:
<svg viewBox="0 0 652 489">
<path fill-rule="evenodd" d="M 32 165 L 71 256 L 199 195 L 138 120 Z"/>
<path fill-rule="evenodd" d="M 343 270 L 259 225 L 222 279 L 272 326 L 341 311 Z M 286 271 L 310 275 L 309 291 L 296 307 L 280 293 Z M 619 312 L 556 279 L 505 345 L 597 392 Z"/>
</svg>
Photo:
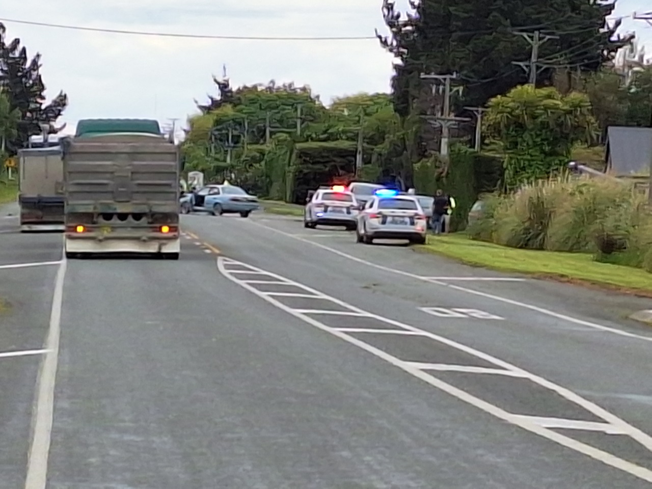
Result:
<svg viewBox="0 0 652 489">
<path fill-rule="evenodd" d="M 398 6 L 407 0 L 398 0 Z M 373 36 L 384 32 L 381 0 L 5 0 L 0 17 L 84 27 L 257 37 Z M 644 4 L 648 4 L 644 7 Z M 618 0 L 617 15 L 652 10 L 652 0 Z M 268 41 L 155 38 L 68 31 L 5 22 L 28 53 L 42 54 L 48 98 L 70 98 L 61 121 L 146 117 L 185 124 L 193 98 L 215 95 L 213 74 L 226 64 L 231 85 L 307 83 L 323 102 L 360 91 L 389 91 L 392 58 L 376 40 Z M 652 27 L 636 29 L 652 53 Z"/>
</svg>

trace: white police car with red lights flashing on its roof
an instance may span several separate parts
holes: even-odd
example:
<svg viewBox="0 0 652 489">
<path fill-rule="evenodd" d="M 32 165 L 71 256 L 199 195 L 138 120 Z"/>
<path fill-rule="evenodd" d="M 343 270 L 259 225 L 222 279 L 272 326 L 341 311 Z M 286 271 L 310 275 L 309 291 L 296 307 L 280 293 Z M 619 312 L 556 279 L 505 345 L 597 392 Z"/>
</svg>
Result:
<svg viewBox="0 0 652 489">
<path fill-rule="evenodd" d="M 319 188 L 308 197 L 303 212 L 303 227 L 344 226 L 347 230 L 355 230 L 359 203 L 355 196 L 343 185 Z"/>
</svg>

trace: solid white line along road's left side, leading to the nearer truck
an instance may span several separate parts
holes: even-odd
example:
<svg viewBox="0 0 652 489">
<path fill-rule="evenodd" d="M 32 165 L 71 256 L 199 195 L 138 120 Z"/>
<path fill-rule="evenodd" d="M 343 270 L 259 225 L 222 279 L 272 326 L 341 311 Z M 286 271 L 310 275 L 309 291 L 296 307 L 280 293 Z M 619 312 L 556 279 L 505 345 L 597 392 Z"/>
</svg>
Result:
<svg viewBox="0 0 652 489">
<path fill-rule="evenodd" d="M 63 306 L 63 282 L 67 261 L 62 259 L 57 271 L 50 312 L 50 331 L 46 340 L 48 353 L 44 355 L 38 374 L 36 411 L 33 416 L 33 438 L 27 458 L 25 489 L 45 489 L 48 478 L 48 456 L 54 411 L 54 384 L 59 360 L 59 336 L 61 334 L 61 308 Z"/>
</svg>

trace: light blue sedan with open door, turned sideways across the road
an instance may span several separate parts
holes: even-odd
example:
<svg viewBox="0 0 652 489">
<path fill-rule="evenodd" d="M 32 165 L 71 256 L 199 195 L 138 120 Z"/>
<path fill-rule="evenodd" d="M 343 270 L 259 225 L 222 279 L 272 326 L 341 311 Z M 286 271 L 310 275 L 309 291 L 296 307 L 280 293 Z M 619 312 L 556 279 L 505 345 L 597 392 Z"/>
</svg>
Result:
<svg viewBox="0 0 652 489">
<path fill-rule="evenodd" d="M 214 216 L 239 213 L 247 217 L 251 211 L 260 208 L 258 197 L 234 185 L 207 185 L 201 190 L 185 194 L 179 203 L 183 214 L 207 212 Z"/>
</svg>

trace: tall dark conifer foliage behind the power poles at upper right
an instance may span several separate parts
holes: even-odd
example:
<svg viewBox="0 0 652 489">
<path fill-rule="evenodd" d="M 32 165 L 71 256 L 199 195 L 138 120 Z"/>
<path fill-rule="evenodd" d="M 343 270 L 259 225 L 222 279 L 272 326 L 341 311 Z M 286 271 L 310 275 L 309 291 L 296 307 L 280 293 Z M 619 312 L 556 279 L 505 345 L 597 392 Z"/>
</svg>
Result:
<svg viewBox="0 0 652 489">
<path fill-rule="evenodd" d="M 393 95 L 396 110 L 407 115 L 422 83 L 420 72 L 458 72 L 465 89 L 458 103 L 483 106 L 527 76 L 512 61 L 527 61 L 530 45 L 515 32 L 556 35 L 540 50 L 542 63 L 599 70 L 628 38 L 615 37 L 617 25 L 604 30 L 614 9 L 587 0 L 415 0 L 402 18 L 394 2 L 385 0 L 383 14 L 389 37 L 381 44 L 396 57 Z M 539 75 L 552 82 L 552 68 Z"/>
</svg>

